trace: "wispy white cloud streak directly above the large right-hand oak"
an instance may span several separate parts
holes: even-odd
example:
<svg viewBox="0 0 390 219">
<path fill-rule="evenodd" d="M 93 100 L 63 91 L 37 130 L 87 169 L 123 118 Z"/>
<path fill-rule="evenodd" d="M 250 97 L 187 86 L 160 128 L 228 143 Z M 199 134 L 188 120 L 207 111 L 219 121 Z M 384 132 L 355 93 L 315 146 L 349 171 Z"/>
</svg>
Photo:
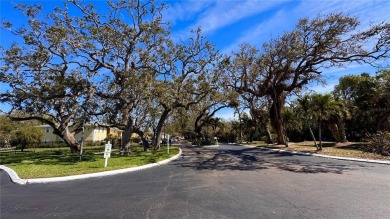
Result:
<svg viewBox="0 0 390 219">
<path fill-rule="evenodd" d="M 259 46 L 268 39 L 275 38 L 294 27 L 300 18 L 313 18 L 317 15 L 343 12 L 357 16 L 361 21 L 360 29 L 367 28 L 372 23 L 389 21 L 390 1 L 388 0 L 303 0 L 295 8 L 281 8 L 272 17 L 259 23 L 250 30 L 243 32 L 231 45 L 223 49 L 224 52 L 238 48 L 238 45 L 247 42 Z"/>
</svg>

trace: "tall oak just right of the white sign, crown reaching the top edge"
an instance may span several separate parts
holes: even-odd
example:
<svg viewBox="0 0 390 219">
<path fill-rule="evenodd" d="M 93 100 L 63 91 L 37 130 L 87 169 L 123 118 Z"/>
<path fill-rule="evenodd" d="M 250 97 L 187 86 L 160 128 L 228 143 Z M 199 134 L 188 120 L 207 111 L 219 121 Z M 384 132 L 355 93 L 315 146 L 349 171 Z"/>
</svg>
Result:
<svg viewBox="0 0 390 219">
<path fill-rule="evenodd" d="M 172 44 L 162 20 L 163 4 L 154 1 L 108 2 L 105 14 L 93 5 L 72 1 L 79 16 L 57 10 L 61 27 L 74 36 L 76 64 L 93 78 L 95 98 L 107 126 L 124 131 L 121 149 L 127 153 L 131 134 L 141 133 L 138 108 L 149 100 L 151 84 L 160 74 L 156 66 Z M 144 111 L 146 117 L 148 110 Z M 137 117 L 137 118 L 136 118 Z M 99 118 L 99 117 L 98 117 Z M 137 122 L 137 124 L 136 124 Z"/>
</svg>

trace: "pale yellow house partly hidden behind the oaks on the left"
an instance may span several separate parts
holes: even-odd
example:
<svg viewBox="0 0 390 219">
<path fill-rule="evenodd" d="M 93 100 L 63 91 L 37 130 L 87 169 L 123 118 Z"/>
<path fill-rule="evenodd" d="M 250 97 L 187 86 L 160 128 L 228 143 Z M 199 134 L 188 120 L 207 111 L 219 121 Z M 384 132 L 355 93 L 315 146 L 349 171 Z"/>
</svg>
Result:
<svg viewBox="0 0 390 219">
<path fill-rule="evenodd" d="M 40 125 L 38 128 L 43 129 L 42 142 L 61 142 L 63 141 L 60 137 L 53 134 L 53 128 L 49 125 Z M 86 124 L 84 128 L 84 141 L 103 141 L 107 138 L 108 134 L 113 136 L 122 137 L 122 131 L 117 128 L 105 128 L 101 126 L 94 126 Z M 82 132 L 76 134 L 76 140 L 81 141 Z"/>
</svg>

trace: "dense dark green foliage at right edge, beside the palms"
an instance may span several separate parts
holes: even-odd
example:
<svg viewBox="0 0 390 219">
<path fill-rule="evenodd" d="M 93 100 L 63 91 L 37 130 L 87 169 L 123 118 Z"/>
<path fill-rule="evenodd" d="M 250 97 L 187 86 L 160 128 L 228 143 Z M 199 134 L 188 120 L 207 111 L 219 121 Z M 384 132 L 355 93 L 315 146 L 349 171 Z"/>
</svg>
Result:
<svg viewBox="0 0 390 219">
<path fill-rule="evenodd" d="M 366 133 L 390 130 L 389 70 L 381 70 L 375 76 L 344 76 L 333 93 L 350 112 L 346 129 L 352 140 L 361 140 Z"/>
</svg>

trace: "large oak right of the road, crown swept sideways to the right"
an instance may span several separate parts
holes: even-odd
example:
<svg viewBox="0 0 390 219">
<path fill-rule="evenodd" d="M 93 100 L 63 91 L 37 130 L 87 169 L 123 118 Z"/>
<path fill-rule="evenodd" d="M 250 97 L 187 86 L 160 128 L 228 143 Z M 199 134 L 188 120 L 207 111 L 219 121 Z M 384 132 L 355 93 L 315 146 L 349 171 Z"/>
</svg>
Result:
<svg viewBox="0 0 390 219">
<path fill-rule="evenodd" d="M 230 85 L 239 93 L 272 100 L 271 124 L 278 143 L 285 144 L 282 109 L 286 95 L 321 79 L 326 68 L 388 58 L 390 24 L 359 28 L 357 18 L 341 13 L 301 19 L 294 30 L 265 43 L 261 51 L 243 45 L 235 52 L 228 71 Z"/>
</svg>

